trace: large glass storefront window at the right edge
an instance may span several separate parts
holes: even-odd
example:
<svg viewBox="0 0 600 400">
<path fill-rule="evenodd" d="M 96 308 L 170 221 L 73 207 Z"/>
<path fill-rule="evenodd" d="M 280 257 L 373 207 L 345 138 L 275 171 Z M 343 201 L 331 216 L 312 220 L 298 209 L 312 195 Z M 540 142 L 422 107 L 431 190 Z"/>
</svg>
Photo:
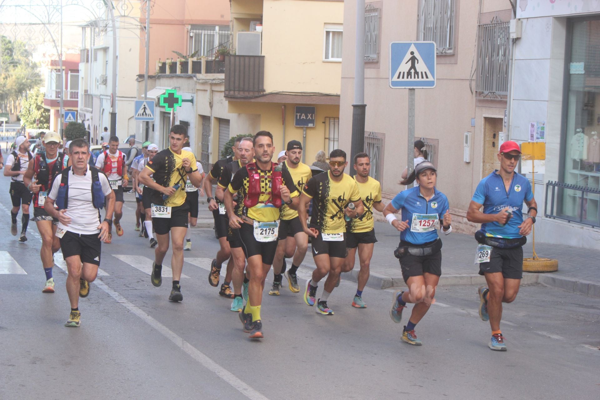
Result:
<svg viewBox="0 0 600 400">
<path fill-rule="evenodd" d="M 565 170 L 563 182 L 600 188 L 600 20 L 572 24 L 566 111 Z M 596 224 L 600 195 L 565 189 L 559 193 L 563 216 Z M 598 222 L 600 223 L 600 222 Z"/>
</svg>

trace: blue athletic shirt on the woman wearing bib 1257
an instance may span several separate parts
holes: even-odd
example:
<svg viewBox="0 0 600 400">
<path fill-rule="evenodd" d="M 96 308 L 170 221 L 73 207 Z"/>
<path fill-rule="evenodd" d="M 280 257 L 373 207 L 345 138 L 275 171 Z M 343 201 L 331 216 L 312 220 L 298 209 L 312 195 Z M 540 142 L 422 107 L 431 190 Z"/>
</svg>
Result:
<svg viewBox="0 0 600 400">
<path fill-rule="evenodd" d="M 409 228 L 400 232 L 400 240 L 412 243 L 413 245 L 422 245 L 433 242 L 437 239 L 437 230 L 429 232 L 413 232 L 410 230 L 413 214 L 437 214 L 438 219 L 443 219 L 444 214 L 449 208 L 448 197 L 434 188 L 433 197 L 429 201 L 422 196 L 419 187 L 403 190 L 392 199 L 392 206 L 397 210 L 402 210 L 402 220 L 409 221 Z M 441 224 L 440 224 L 441 225 Z"/>
</svg>

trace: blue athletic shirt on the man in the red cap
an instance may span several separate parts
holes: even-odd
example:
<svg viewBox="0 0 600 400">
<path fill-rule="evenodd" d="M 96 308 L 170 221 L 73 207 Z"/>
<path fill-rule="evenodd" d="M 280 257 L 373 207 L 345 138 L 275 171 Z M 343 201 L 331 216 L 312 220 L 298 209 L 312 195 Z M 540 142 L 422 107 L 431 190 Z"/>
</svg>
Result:
<svg viewBox="0 0 600 400">
<path fill-rule="evenodd" d="M 515 239 L 521 237 L 519 234 L 519 225 L 523 223 L 523 202 L 533 199 L 533 192 L 529 179 L 523 175 L 514 173 L 511 186 L 508 193 L 502 176 L 495 170 L 479 182 L 473 201 L 483 204 L 485 214 L 497 214 L 506 207 L 512 210 L 512 218 L 508 223 L 501 226 L 498 222 L 485 222 L 481 224 L 481 230 L 488 236 L 505 237 L 506 239 Z"/>
</svg>

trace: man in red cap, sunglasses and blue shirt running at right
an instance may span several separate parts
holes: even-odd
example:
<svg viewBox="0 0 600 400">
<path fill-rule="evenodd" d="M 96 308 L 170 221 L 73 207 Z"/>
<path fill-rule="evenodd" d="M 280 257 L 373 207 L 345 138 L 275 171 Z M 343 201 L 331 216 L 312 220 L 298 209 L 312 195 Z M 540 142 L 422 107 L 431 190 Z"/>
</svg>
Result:
<svg viewBox="0 0 600 400">
<path fill-rule="evenodd" d="M 480 243 L 476 261 L 479 275 L 485 276 L 487 285 L 481 285 L 478 290 L 479 316 L 490 321 L 492 335 L 488 346 L 491 350 L 506 351 L 500 330 L 502 303 L 512 303 L 517 297 L 523 278 L 523 245 L 535 224 L 538 204 L 533 199 L 529 180 L 515 172 L 521 157 L 519 145 L 512 141 L 502 143 L 497 157 L 500 170 L 477 185 L 467 220 L 481 224 L 481 230 L 475 233 Z M 525 219 L 523 203 L 529 207 Z"/>
</svg>

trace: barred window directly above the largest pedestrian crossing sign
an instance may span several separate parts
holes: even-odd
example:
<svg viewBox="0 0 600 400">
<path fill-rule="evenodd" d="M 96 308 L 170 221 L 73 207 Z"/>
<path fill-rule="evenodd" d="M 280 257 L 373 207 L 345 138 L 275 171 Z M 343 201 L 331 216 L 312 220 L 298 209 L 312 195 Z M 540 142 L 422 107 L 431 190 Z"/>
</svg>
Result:
<svg viewBox="0 0 600 400">
<path fill-rule="evenodd" d="M 437 54 L 454 53 L 454 0 L 420 0 L 419 41 L 433 41 Z"/>
</svg>

